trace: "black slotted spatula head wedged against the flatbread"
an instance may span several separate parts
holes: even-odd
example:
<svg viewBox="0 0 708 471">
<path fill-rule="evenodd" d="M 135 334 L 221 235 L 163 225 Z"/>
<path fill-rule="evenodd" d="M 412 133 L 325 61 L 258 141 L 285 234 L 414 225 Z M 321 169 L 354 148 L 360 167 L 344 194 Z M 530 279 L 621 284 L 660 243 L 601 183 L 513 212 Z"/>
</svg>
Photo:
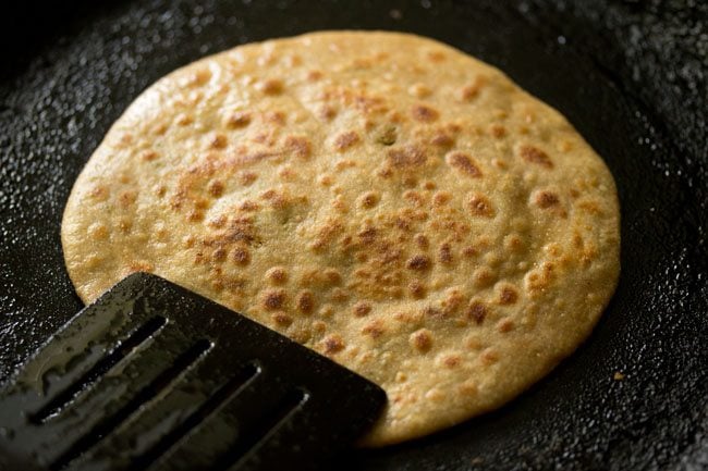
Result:
<svg viewBox="0 0 708 471">
<path fill-rule="evenodd" d="M 384 401 L 331 360 L 137 273 L 0 392 L 0 469 L 318 469 Z"/>
</svg>

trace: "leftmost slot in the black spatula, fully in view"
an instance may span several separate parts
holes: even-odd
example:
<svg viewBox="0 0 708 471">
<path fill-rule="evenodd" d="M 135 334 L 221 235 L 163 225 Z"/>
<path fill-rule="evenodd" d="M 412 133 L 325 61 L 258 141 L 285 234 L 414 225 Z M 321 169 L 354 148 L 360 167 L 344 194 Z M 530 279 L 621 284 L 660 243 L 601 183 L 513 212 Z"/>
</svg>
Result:
<svg viewBox="0 0 708 471">
<path fill-rule="evenodd" d="M 166 323 L 166 318 L 155 317 L 136 329 L 125 340 L 118 344 L 110 354 L 100 359 L 77 381 L 57 394 L 53 399 L 37 412 L 30 414 L 28 417 L 29 422 L 35 425 L 40 425 L 51 417 L 58 414 L 64 406 L 74 400 L 81 393 L 87 391 L 98 379 L 108 373 L 111 368 L 115 367 L 150 336 L 155 335 Z"/>
</svg>

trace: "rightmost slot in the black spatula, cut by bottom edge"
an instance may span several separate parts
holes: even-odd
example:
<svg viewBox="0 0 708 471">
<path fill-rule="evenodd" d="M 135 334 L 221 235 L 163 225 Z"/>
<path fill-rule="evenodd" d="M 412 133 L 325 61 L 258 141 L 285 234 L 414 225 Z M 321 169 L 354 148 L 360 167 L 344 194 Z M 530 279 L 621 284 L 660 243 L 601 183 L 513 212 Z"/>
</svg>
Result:
<svg viewBox="0 0 708 471">
<path fill-rule="evenodd" d="M 249 430 L 243 431 L 239 441 L 230 448 L 229 453 L 218 460 L 213 470 L 239 469 L 240 463 L 249 457 L 249 453 L 255 451 L 259 443 L 268 441 L 278 429 L 303 408 L 307 400 L 309 400 L 309 392 L 306 389 L 289 391 L 274 407 L 264 413 L 261 420 Z"/>
</svg>

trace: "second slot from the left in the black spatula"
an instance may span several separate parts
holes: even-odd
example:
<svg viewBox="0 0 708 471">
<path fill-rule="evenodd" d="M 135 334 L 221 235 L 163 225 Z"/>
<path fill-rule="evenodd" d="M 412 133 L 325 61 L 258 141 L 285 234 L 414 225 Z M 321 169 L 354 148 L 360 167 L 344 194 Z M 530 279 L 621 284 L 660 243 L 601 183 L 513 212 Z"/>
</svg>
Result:
<svg viewBox="0 0 708 471">
<path fill-rule="evenodd" d="M 51 471 L 65 468 L 71 461 L 86 453 L 105 436 L 109 435 L 118 425 L 129 419 L 141 406 L 150 401 L 161 391 L 181 376 L 185 370 L 194 364 L 204 354 L 212 347 L 208 339 L 196 342 L 188 350 L 180 355 L 174 363 L 158 375 L 150 384 L 141 389 L 133 399 L 114 414 L 98 422 L 88 433 L 78 438 L 69 449 L 57 458 L 50 466 Z"/>
</svg>

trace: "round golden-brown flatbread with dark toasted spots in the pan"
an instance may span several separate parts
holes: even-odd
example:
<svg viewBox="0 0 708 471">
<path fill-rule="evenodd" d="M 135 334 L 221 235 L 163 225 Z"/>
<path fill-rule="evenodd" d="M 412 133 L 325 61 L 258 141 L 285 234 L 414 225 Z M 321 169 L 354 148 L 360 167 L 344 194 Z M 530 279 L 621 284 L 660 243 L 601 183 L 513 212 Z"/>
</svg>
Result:
<svg viewBox="0 0 708 471">
<path fill-rule="evenodd" d="M 381 385 L 365 444 L 495 409 L 590 333 L 619 275 L 602 160 L 498 70 L 411 35 L 246 45 L 148 88 L 66 204 L 85 301 L 134 271 Z"/>
</svg>

